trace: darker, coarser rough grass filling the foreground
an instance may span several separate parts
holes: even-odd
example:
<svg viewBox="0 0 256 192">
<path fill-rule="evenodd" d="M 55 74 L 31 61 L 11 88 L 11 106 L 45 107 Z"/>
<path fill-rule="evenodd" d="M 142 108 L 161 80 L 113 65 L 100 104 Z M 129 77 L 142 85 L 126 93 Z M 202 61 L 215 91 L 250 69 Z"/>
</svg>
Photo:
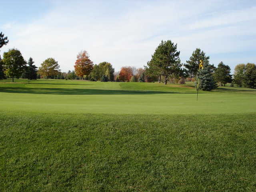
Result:
<svg viewBox="0 0 256 192">
<path fill-rule="evenodd" d="M 255 191 L 255 119 L 2 112 L 0 191 Z"/>
</svg>

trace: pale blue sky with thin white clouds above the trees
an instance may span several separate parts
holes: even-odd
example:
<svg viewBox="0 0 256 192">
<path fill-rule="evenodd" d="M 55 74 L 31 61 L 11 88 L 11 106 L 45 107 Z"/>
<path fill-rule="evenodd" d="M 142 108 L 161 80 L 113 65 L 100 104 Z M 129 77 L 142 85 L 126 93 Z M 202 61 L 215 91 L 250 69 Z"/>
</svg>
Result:
<svg viewBox="0 0 256 192">
<path fill-rule="evenodd" d="M 182 63 L 200 48 L 210 64 L 256 63 L 254 0 L 12 0 L 1 1 L 0 32 L 10 48 L 47 58 L 62 72 L 74 70 L 76 55 L 86 50 L 94 64 L 146 65 L 161 40 L 178 45 Z"/>
</svg>

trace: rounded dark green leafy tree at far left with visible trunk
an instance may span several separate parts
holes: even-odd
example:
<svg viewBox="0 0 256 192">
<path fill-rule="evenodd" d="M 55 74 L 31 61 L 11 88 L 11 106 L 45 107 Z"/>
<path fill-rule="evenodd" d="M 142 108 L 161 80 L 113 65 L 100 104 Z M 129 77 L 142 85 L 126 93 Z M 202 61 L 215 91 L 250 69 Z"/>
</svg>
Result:
<svg viewBox="0 0 256 192">
<path fill-rule="evenodd" d="M 8 52 L 4 52 L 3 62 L 4 72 L 12 78 L 12 82 L 14 82 L 14 77 L 20 76 L 24 72 L 26 66 L 26 61 L 18 49 L 10 49 Z"/>
</svg>

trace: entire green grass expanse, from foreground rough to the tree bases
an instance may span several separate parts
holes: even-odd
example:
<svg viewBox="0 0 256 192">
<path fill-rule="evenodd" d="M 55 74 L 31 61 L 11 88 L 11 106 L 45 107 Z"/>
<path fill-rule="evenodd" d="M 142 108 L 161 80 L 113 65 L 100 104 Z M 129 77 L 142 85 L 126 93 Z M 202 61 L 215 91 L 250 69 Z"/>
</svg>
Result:
<svg viewBox="0 0 256 192">
<path fill-rule="evenodd" d="M 0 191 L 256 191 L 256 91 L 0 81 Z"/>
</svg>

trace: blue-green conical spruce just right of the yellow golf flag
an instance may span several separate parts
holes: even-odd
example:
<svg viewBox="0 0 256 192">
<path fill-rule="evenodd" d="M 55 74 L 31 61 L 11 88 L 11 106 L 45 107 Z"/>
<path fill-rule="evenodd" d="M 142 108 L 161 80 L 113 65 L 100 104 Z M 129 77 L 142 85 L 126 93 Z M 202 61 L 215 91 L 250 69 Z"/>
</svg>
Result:
<svg viewBox="0 0 256 192">
<path fill-rule="evenodd" d="M 212 68 L 212 65 L 208 64 L 207 59 L 204 62 L 204 67 L 200 70 L 200 72 L 197 72 L 195 85 L 197 87 L 199 78 L 199 89 L 204 91 L 210 91 L 216 89 L 218 85 L 216 84 L 216 81 L 213 77 L 214 69 Z"/>
</svg>

